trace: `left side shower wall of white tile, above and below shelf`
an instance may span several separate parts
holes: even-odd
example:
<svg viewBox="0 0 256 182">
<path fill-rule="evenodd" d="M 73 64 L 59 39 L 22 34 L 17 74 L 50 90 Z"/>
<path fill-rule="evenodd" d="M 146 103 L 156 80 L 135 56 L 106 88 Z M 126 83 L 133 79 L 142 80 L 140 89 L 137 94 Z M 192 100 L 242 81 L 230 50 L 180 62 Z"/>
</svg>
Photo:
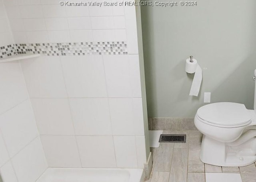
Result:
<svg viewBox="0 0 256 182">
<path fill-rule="evenodd" d="M 0 47 L 14 41 L 0 1 Z M 4 47 L 4 48 L 3 48 Z M 6 54 L 4 52 L 7 52 Z M 2 54 L 4 53 L 4 54 Z M 0 63 L 0 174 L 4 182 L 34 182 L 48 167 L 18 61 Z"/>
</svg>

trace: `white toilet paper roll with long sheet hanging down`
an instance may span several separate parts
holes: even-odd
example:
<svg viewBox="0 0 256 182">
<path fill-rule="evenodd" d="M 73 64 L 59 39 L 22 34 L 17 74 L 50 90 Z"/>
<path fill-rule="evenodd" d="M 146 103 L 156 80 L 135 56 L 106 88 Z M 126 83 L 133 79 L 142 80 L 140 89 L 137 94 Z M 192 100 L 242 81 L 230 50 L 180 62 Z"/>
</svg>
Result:
<svg viewBox="0 0 256 182">
<path fill-rule="evenodd" d="M 195 73 L 189 95 L 198 96 L 202 82 L 202 69 L 196 59 L 192 59 L 192 62 L 190 62 L 190 59 L 186 59 L 185 70 L 187 73 Z"/>
</svg>

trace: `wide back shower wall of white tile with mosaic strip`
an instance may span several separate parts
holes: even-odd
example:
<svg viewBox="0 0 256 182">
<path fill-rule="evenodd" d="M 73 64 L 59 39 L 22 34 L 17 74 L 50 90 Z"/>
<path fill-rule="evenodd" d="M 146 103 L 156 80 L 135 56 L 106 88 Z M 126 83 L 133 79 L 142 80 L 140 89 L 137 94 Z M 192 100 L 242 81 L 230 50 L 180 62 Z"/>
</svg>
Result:
<svg viewBox="0 0 256 182">
<path fill-rule="evenodd" d="M 41 54 L 20 63 L 48 166 L 144 168 L 135 7 L 4 2 L 17 52 Z"/>
</svg>

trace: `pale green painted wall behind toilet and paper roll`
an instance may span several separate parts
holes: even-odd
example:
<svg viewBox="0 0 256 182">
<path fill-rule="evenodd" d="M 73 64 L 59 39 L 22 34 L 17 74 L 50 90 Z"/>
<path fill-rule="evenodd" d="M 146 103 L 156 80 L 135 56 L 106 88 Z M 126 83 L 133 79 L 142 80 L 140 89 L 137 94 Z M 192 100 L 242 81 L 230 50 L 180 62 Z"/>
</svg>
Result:
<svg viewBox="0 0 256 182">
<path fill-rule="evenodd" d="M 179 2 L 179 1 L 178 1 Z M 196 7 L 141 7 L 149 117 L 194 117 L 211 102 L 253 109 L 256 68 L 256 1 L 198 0 Z M 198 97 L 188 96 L 193 55 L 203 69 Z"/>
</svg>

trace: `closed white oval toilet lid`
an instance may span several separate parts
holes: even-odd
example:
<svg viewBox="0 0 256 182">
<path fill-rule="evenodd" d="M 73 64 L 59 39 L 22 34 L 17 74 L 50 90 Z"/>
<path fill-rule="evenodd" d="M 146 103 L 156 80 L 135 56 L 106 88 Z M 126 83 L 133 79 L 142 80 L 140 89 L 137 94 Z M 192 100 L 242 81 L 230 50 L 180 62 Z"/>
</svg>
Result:
<svg viewBox="0 0 256 182">
<path fill-rule="evenodd" d="M 204 121 L 227 127 L 243 125 L 250 121 L 249 111 L 244 104 L 233 102 L 207 104 L 199 108 L 196 114 Z"/>
</svg>

